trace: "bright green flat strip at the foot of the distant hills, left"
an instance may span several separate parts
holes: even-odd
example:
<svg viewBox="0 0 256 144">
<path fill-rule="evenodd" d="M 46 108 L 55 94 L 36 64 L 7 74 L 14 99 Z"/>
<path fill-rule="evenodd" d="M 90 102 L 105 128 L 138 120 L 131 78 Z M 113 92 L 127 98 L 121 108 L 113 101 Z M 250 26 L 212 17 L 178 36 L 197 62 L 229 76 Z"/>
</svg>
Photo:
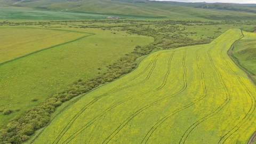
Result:
<svg viewBox="0 0 256 144">
<path fill-rule="evenodd" d="M 129 19 L 159 19 L 165 16 L 132 15 L 117 13 L 97 12 L 69 12 L 69 11 L 46 11 L 29 9 L 27 7 L 0 6 L 0 20 L 95 20 L 106 19 L 110 15 L 116 15 Z"/>
</svg>

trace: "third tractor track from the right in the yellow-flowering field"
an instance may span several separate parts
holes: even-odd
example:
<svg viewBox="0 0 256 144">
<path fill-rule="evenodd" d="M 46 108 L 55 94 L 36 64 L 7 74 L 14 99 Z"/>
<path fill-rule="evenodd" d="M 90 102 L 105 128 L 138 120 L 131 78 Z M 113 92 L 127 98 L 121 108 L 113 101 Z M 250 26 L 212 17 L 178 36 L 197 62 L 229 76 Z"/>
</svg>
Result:
<svg viewBox="0 0 256 144">
<path fill-rule="evenodd" d="M 198 49 L 196 51 L 196 60 L 197 60 L 197 67 L 198 69 L 200 70 L 201 72 L 201 84 L 202 84 L 202 87 L 203 87 L 203 95 L 201 97 L 199 97 L 198 99 L 196 99 L 195 101 L 193 102 L 190 102 L 188 105 L 186 106 L 183 106 L 175 111 L 173 111 L 172 113 L 166 115 L 165 117 L 163 117 L 160 121 L 158 121 L 153 127 L 151 127 L 151 129 L 148 131 L 148 133 L 146 134 L 146 136 L 143 138 L 142 142 L 141 143 L 147 143 L 149 138 L 151 137 L 151 135 L 155 132 L 155 130 L 162 124 L 164 123 L 167 119 L 169 119 L 170 117 L 172 117 L 173 115 L 181 112 L 182 110 L 185 110 L 191 106 L 194 106 L 197 102 L 203 100 L 204 98 L 206 98 L 207 96 L 207 89 L 206 89 L 206 85 L 205 85 L 205 81 L 204 81 L 204 71 L 202 70 L 201 66 L 200 66 L 200 63 L 199 63 L 199 57 L 198 57 L 198 51 L 200 49 Z"/>
</svg>

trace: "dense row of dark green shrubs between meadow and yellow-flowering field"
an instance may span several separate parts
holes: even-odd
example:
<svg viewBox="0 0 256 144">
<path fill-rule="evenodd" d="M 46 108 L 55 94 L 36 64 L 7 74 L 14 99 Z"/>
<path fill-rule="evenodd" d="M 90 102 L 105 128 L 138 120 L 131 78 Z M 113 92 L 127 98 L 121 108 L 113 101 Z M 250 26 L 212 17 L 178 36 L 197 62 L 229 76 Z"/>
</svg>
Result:
<svg viewBox="0 0 256 144">
<path fill-rule="evenodd" d="M 41 105 L 35 106 L 12 119 L 4 129 L 0 130 L 0 141 L 2 143 L 22 143 L 28 140 L 36 130 L 50 122 L 51 114 L 63 102 L 129 73 L 137 66 L 135 60 L 141 55 L 149 54 L 153 49 L 155 49 L 153 44 L 143 47 L 137 46 L 132 53 L 126 54 L 123 58 L 109 65 L 106 73 L 85 81 L 78 79 L 77 82 L 74 82 L 67 89 L 55 93 L 52 98 L 47 99 Z"/>
</svg>

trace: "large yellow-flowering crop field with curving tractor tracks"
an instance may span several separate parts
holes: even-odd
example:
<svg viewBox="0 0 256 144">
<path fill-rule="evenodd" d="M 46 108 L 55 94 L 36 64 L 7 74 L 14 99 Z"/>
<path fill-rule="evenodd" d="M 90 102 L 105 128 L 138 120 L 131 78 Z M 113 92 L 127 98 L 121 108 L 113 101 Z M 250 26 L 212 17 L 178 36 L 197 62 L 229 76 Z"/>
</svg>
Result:
<svg viewBox="0 0 256 144">
<path fill-rule="evenodd" d="M 246 143 L 256 130 L 255 85 L 211 44 L 158 51 L 132 73 L 77 99 L 33 143 Z"/>
</svg>

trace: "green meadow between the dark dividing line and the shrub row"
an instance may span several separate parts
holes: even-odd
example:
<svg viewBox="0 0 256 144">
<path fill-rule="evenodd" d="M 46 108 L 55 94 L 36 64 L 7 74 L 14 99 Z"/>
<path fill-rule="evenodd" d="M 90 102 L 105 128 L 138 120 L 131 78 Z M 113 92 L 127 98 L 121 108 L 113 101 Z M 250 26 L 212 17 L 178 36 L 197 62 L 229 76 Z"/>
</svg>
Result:
<svg viewBox="0 0 256 144">
<path fill-rule="evenodd" d="M 75 29 L 69 29 L 75 30 Z M 136 45 L 146 45 L 153 38 L 127 35 L 108 30 L 82 30 L 95 35 L 53 47 L 0 66 L 0 109 L 21 109 L 11 115 L 0 115 L 0 127 L 17 114 L 37 105 L 57 90 L 79 78 L 90 78 Z M 127 36 L 126 36 L 127 35 Z M 32 98 L 38 99 L 31 102 Z"/>
</svg>

